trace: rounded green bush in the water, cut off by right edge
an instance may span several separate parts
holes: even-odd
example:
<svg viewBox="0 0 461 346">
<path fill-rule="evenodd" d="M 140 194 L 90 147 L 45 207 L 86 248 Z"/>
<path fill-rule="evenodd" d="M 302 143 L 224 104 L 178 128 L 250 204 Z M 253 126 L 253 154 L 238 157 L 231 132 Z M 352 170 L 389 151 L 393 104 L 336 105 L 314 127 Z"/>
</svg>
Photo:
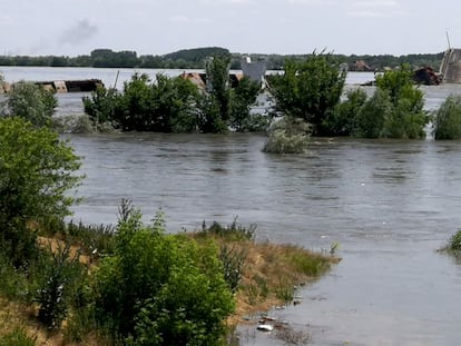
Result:
<svg viewBox="0 0 461 346">
<path fill-rule="evenodd" d="M 435 139 L 461 139 L 461 96 L 450 95 L 435 112 Z"/>
</svg>

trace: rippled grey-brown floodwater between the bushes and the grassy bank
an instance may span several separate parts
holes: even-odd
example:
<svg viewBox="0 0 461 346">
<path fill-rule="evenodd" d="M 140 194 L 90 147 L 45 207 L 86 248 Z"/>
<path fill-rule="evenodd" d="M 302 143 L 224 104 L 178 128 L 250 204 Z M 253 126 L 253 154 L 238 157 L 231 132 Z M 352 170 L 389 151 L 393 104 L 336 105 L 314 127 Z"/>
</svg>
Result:
<svg viewBox="0 0 461 346">
<path fill-rule="evenodd" d="M 426 108 L 460 90 L 424 88 Z M 62 113 L 81 109 L 79 96 L 59 100 Z M 461 261 L 437 251 L 461 227 L 461 141 L 313 139 L 308 154 L 281 156 L 257 135 L 67 138 L 86 175 L 76 219 L 115 223 L 128 198 L 146 220 L 161 208 L 170 231 L 238 217 L 259 240 L 340 244 L 342 261 L 297 293 L 301 305 L 271 312 L 313 345 L 461 343 Z M 241 345 L 282 345 L 241 333 Z"/>
</svg>

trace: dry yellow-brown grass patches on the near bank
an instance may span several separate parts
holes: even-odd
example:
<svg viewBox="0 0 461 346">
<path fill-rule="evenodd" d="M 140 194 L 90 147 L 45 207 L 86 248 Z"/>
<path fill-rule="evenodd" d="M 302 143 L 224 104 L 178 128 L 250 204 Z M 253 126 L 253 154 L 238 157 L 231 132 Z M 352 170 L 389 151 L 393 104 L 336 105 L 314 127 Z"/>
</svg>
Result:
<svg viewBox="0 0 461 346">
<path fill-rule="evenodd" d="M 332 265 L 339 261 L 337 257 L 327 251 L 314 253 L 294 245 L 275 245 L 269 243 L 255 243 L 253 240 L 235 240 L 215 235 L 192 234 L 198 244 L 215 241 L 219 247 L 227 247 L 234 254 L 244 254 L 241 284 L 235 294 L 236 310 L 227 320 L 233 328 L 238 324 L 251 323 L 257 319 L 261 313 L 293 304 L 296 287 L 312 283 L 324 275 Z M 210 239 L 213 238 L 213 239 Z M 53 251 L 59 251 L 63 246 L 62 235 L 53 237 L 40 237 L 40 246 L 50 246 Z M 98 267 L 95 254 L 89 254 L 84 240 L 67 238 L 71 241 L 71 257 L 78 255 L 79 261 L 89 271 Z M 61 327 L 49 333 L 37 322 L 37 307 L 18 301 L 11 301 L 4 295 L 0 295 L 0 342 L 8 334 L 23 334 L 35 340 L 35 345 L 77 345 L 69 342 L 70 330 L 65 320 Z M 98 338 L 96 333 L 88 335 L 82 343 L 85 345 L 105 345 L 105 340 Z M 1 344 L 1 343 L 0 343 Z M 80 343 L 81 344 L 81 343 Z M 21 344 L 22 345 L 22 344 Z M 29 345 L 29 344 L 24 344 Z"/>
</svg>

